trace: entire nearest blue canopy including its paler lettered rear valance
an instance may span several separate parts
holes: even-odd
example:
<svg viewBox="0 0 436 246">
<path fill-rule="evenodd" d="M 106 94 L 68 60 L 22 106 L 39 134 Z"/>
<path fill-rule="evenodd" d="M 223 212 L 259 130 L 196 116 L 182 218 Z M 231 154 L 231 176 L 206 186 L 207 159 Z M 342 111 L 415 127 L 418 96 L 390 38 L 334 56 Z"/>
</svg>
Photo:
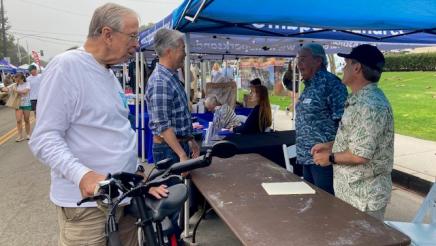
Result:
<svg viewBox="0 0 436 246">
<path fill-rule="evenodd" d="M 200 54 L 290 56 L 313 40 L 330 53 L 361 42 L 386 50 L 436 44 L 435 19 L 434 1 L 186 0 L 141 33 L 140 44 L 151 50 L 154 33 L 167 27 L 190 33 L 191 53 Z"/>
</svg>

